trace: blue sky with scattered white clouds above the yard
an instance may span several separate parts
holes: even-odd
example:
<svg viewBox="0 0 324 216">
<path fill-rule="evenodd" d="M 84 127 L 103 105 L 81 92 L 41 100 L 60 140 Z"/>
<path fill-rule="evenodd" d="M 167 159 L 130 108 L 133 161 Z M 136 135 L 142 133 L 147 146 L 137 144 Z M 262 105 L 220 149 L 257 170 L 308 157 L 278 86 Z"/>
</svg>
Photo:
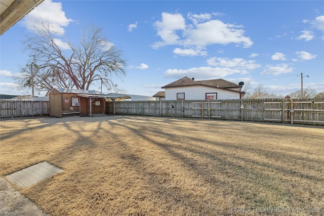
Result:
<svg viewBox="0 0 324 216">
<path fill-rule="evenodd" d="M 1 94 L 31 94 L 13 77 L 28 63 L 22 41 L 39 18 L 75 45 L 85 27 L 101 27 L 127 61 L 126 76 L 115 79 L 124 93 L 152 96 L 188 76 L 250 82 L 252 92 L 262 84 L 286 96 L 300 90 L 301 73 L 309 76 L 304 88 L 324 91 L 324 1 L 45 0 L 0 37 Z"/>
</svg>

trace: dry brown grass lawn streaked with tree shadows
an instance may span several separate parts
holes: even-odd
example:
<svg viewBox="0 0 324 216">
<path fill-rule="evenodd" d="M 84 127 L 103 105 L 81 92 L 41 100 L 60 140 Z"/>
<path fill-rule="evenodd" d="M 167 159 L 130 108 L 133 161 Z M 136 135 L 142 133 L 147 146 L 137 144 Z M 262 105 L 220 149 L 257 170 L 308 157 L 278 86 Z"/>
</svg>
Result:
<svg viewBox="0 0 324 216">
<path fill-rule="evenodd" d="M 2 120 L 0 132 L 2 177 L 41 161 L 64 169 L 20 190 L 51 215 L 324 210 L 324 128 L 319 126 L 46 117 Z"/>
</svg>

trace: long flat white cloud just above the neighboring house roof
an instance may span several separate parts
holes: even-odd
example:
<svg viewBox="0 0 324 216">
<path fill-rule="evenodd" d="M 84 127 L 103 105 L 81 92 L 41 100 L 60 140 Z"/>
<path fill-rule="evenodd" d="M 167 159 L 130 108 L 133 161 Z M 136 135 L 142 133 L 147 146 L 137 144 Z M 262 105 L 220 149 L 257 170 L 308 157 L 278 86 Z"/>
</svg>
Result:
<svg viewBox="0 0 324 216">
<path fill-rule="evenodd" d="M 220 68 L 220 67 L 194 67 L 185 70 L 181 69 L 168 69 L 165 71 L 165 76 L 182 78 L 188 77 L 199 77 L 199 79 L 213 79 L 222 78 L 234 73 L 241 73 L 241 70 L 231 68 Z M 244 74 L 244 73 L 243 73 Z"/>
</svg>

